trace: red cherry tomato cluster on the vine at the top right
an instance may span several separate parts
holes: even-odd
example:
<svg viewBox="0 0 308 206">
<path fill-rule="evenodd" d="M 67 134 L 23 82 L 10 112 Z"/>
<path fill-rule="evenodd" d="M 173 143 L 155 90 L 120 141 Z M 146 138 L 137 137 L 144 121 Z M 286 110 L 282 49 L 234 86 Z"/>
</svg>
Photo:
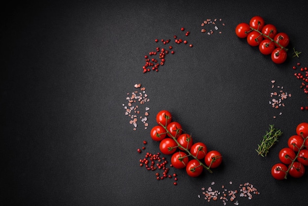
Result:
<svg viewBox="0 0 308 206">
<path fill-rule="evenodd" d="M 265 24 L 260 16 L 252 17 L 249 24 L 238 24 L 235 33 L 240 38 L 246 38 L 250 46 L 259 46 L 262 54 L 271 55 L 274 63 L 281 64 L 287 59 L 289 36 L 277 33 L 277 28 L 273 24 Z"/>
</svg>

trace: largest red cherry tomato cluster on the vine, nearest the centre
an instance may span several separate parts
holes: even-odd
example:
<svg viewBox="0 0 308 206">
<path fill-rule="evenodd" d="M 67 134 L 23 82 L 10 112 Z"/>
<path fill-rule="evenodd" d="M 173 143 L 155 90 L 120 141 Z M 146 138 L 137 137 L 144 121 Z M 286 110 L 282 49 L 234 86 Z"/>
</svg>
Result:
<svg viewBox="0 0 308 206">
<path fill-rule="evenodd" d="M 211 168 L 221 164 L 221 154 L 216 150 L 208 152 L 203 142 L 193 143 L 191 135 L 183 132 L 181 124 L 172 121 L 169 111 L 159 111 L 156 122 L 158 125 L 152 128 L 151 137 L 160 141 L 159 149 L 163 154 L 172 155 L 171 164 L 174 168 L 185 169 L 189 176 L 196 177 L 204 168 L 212 173 Z"/>
</svg>

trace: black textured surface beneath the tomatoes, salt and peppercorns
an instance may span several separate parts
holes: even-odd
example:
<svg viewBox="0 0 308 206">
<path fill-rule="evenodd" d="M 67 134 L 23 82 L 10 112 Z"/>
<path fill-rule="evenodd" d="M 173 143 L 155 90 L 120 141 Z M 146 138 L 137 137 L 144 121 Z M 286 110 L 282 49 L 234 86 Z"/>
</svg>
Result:
<svg viewBox="0 0 308 206">
<path fill-rule="evenodd" d="M 306 1 L 53 1 L 2 9 L 9 13 L 1 30 L 1 205 L 223 205 L 203 199 L 201 188 L 211 182 L 217 190 L 253 184 L 260 195 L 238 194 L 242 206 L 307 202 L 307 173 L 286 181 L 270 173 L 297 124 L 308 121 L 299 109 L 307 95 L 292 69 L 308 65 Z M 255 15 L 289 34 L 283 65 L 235 35 Z M 222 19 L 222 34 L 200 32 L 208 18 Z M 175 44 L 174 35 L 193 47 Z M 156 38 L 170 38 L 175 54 L 158 72 L 143 73 L 144 56 L 166 47 Z M 292 47 L 302 51 L 299 59 L 291 58 Z M 271 80 L 292 94 L 285 107 L 269 104 L 279 91 Z M 147 130 L 138 120 L 133 131 L 123 108 L 136 83 L 150 99 L 139 108 L 150 108 Z M 195 141 L 220 151 L 221 167 L 198 178 L 170 169 L 177 186 L 139 167 L 145 152 L 159 151 L 150 129 L 162 109 Z M 255 148 L 269 124 L 283 136 L 262 158 Z"/>
</svg>

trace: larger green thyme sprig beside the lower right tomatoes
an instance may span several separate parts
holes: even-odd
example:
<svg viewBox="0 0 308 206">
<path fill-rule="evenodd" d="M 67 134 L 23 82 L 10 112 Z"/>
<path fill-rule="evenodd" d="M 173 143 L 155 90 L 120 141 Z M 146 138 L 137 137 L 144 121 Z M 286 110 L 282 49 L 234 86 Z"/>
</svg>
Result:
<svg viewBox="0 0 308 206">
<path fill-rule="evenodd" d="M 278 141 L 278 138 L 282 135 L 281 130 L 278 130 L 274 125 L 269 126 L 269 131 L 266 132 L 266 135 L 263 136 L 261 144 L 258 144 L 258 155 L 265 157 L 269 152 L 270 148 Z"/>
</svg>

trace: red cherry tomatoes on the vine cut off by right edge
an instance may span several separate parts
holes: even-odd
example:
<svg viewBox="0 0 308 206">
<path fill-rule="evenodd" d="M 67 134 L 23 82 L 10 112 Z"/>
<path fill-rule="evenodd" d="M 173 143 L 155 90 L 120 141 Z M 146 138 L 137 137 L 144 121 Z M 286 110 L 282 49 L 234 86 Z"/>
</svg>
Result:
<svg viewBox="0 0 308 206">
<path fill-rule="evenodd" d="M 275 164 L 271 170 L 275 179 L 286 179 L 288 174 L 299 178 L 305 174 L 305 166 L 308 166 L 308 123 L 300 123 L 296 134 L 289 137 L 288 147 L 279 151 L 281 163 Z"/>
</svg>

